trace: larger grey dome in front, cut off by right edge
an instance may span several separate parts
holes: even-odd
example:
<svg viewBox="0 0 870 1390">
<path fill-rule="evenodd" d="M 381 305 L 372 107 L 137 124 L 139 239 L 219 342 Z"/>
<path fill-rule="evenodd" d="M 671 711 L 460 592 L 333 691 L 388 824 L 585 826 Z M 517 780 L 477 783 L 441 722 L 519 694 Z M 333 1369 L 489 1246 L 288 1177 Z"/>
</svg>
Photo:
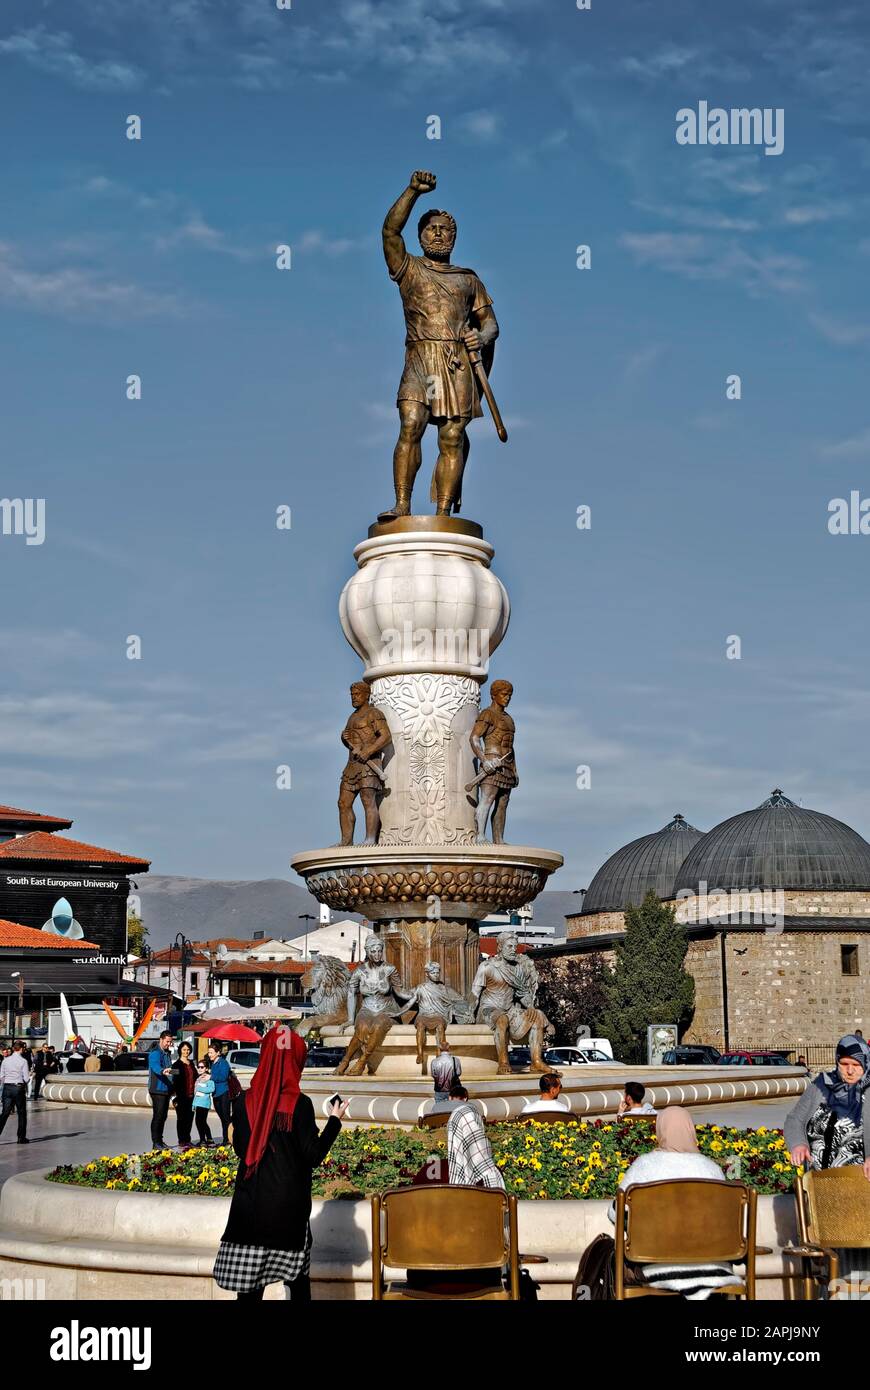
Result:
<svg viewBox="0 0 870 1390">
<path fill-rule="evenodd" d="M 689 849 L 675 891 L 731 888 L 870 891 L 870 844 L 842 820 L 796 806 L 777 787 L 755 810 L 707 831 Z"/>
</svg>

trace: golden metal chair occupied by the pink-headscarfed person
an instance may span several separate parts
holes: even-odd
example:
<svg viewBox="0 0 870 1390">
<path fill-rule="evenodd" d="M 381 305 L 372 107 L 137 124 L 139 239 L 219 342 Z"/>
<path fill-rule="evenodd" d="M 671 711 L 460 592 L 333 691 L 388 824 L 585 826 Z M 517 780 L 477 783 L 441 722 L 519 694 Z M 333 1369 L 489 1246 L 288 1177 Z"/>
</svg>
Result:
<svg viewBox="0 0 870 1390">
<path fill-rule="evenodd" d="M 631 1283 L 628 1265 L 741 1264 L 719 1294 L 755 1298 L 755 1223 L 757 1197 L 745 1183 L 702 1177 L 635 1183 L 616 1198 L 616 1298 L 650 1294 L 680 1297 L 670 1289 Z"/>
</svg>

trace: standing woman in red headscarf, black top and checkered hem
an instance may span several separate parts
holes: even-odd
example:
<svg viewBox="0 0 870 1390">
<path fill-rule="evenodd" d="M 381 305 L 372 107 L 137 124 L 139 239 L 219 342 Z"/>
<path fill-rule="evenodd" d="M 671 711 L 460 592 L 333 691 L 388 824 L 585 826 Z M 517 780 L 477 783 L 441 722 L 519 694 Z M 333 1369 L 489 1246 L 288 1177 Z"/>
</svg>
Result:
<svg viewBox="0 0 870 1390">
<path fill-rule="evenodd" d="M 289 1298 L 311 1298 L 311 1172 L 335 1143 L 347 1102 L 331 1106 L 318 1133 L 314 1106 L 299 1088 L 306 1056 L 297 1033 L 274 1027 L 250 1090 L 233 1101 L 232 1147 L 240 1162 L 214 1277 L 239 1298 L 260 1300 L 278 1280 Z"/>
</svg>

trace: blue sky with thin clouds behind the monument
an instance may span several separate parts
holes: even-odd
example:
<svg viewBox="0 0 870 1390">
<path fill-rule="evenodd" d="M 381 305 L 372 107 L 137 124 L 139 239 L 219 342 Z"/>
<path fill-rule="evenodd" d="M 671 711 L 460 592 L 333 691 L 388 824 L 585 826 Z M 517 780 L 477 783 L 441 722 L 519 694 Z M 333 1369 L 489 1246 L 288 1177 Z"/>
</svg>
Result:
<svg viewBox="0 0 870 1390">
<path fill-rule="evenodd" d="M 160 873 L 336 838 L 336 603 L 402 367 L 379 227 L 422 167 L 502 325 L 464 514 L 513 600 L 509 837 L 568 890 L 774 785 L 870 834 L 870 537 L 827 530 L 870 495 L 866 8 L 82 8 L 0 29 L 0 492 L 46 499 L 42 546 L 0 537 L 0 801 Z M 700 100 L 781 107 L 782 154 L 678 146 Z"/>
</svg>

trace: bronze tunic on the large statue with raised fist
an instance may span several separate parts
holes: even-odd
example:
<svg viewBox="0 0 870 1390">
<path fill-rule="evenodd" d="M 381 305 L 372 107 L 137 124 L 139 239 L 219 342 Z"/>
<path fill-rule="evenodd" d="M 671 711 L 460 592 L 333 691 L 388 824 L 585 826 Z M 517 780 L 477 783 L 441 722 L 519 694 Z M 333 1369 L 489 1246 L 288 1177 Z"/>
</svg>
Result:
<svg viewBox="0 0 870 1390">
<path fill-rule="evenodd" d="M 434 420 L 482 416 L 461 341 L 471 316 L 492 303 L 473 270 L 406 256 L 391 277 L 404 307 L 404 373 L 397 400 L 418 400 Z"/>
</svg>

